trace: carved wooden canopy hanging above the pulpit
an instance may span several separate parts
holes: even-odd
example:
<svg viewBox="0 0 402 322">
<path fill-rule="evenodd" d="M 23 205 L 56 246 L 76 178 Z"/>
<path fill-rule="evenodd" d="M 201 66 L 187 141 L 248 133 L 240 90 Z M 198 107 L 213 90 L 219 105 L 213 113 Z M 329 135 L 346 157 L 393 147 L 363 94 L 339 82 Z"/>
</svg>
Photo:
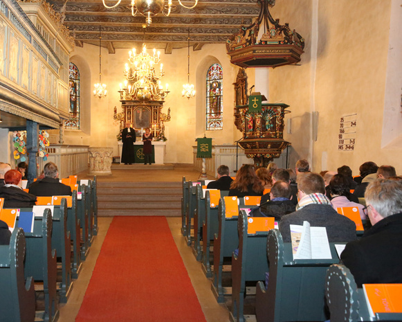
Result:
<svg viewBox="0 0 402 322">
<path fill-rule="evenodd" d="M 291 30 L 289 24 L 280 25 L 279 19 L 273 19 L 268 5 L 274 5 L 275 0 L 257 1 L 260 11 L 255 22 L 247 27 L 241 26 L 226 41 L 230 62 L 244 68 L 277 67 L 300 62 L 300 55 L 304 53 L 304 38 L 295 29 Z M 264 33 L 259 37 L 261 27 Z"/>
</svg>

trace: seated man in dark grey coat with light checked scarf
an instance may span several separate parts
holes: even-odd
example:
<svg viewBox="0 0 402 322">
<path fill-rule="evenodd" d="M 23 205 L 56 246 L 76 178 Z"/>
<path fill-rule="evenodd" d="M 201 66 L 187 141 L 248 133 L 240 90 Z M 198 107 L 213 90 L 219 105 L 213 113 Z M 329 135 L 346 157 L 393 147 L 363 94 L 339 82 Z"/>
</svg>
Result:
<svg viewBox="0 0 402 322">
<path fill-rule="evenodd" d="M 307 172 L 298 175 L 298 206 L 296 211 L 284 215 L 279 230 L 284 242 L 291 242 L 291 224 L 325 227 L 329 242 L 349 242 L 356 240 L 356 224 L 338 214 L 325 197 L 324 179 L 318 173 Z"/>
</svg>

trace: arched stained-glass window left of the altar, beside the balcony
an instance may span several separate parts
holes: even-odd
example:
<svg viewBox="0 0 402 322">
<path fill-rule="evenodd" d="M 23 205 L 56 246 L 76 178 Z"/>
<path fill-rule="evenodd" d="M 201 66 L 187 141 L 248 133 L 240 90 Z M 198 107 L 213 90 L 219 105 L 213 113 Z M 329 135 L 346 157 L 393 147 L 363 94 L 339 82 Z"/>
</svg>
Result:
<svg viewBox="0 0 402 322">
<path fill-rule="evenodd" d="M 70 119 L 64 121 L 66 129 L 80 129 L 80 71 L 70 63 Z"/>
</svg>

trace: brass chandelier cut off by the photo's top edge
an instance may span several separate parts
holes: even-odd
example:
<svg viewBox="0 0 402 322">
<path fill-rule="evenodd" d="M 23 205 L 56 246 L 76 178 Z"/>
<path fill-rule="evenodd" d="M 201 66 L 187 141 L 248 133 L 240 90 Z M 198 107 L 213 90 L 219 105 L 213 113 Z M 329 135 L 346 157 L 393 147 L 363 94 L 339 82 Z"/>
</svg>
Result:
<svg viewBox="0 0 402 322">
<path fill-rule="evenodd" d="M 105 0 L 102 0 L 103 6 L 105 8 L 111 9 L 117 7 L 122 0 L 118 0 L 113 6 L 107 6 Z M 187 9 L 192 9 L 197 6 L 198 0 L 194 0 L 194 6 L 187 7 L 184 6 L 181 0 L 178 0 L 179 4 Z M 143 15 L 146 18 L 147 25 L 152 24 L 152 17 L 158 15 L 158 13 L 163 13 L 165 16 L 170 15 L 172 10 L 172 0 L 168 0 L 165 4 L 165 0 L 131 0 L 131 15 L 136 16 L 137 13 Z"/>
</svg>

